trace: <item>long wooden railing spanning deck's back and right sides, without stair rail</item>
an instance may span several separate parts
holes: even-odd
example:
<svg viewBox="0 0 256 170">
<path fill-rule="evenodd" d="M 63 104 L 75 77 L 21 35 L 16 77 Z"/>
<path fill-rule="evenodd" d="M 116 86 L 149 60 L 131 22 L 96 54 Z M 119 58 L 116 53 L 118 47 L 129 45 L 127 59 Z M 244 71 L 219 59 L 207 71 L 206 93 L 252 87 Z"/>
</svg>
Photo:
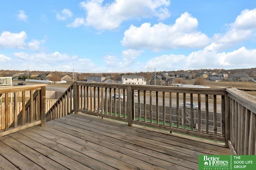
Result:
<svg viewBox="0 0 256 170">
<path fill-rule="evenodd" d="M 187 102 L 190 108 L 181 106 Z M 214 139 L 234 147 L 234 154 L 256 154 L 256 98 L 231 87 L 75 82 L 74 112 Z"/>
</svg>

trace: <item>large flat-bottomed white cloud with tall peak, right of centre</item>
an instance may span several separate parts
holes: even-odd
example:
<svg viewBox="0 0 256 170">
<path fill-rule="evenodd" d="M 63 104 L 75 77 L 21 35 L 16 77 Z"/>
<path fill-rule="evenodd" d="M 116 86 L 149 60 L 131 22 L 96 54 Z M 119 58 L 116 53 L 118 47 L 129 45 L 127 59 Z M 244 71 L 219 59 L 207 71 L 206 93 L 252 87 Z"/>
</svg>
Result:
<svg viewBox="0 0 256 170">
<path fill-rule="evenodd" d="M 132 49 L 162 49 L 198 48 L 208 45 L 209 38 L 197 31 L 198 21 L 188 12 L 176 19 L 174 25 L 158 23 L 151 26 L 143 23 L 140 27 L 131 25 L 124 32 L 122 45 Z"/>
</svg>

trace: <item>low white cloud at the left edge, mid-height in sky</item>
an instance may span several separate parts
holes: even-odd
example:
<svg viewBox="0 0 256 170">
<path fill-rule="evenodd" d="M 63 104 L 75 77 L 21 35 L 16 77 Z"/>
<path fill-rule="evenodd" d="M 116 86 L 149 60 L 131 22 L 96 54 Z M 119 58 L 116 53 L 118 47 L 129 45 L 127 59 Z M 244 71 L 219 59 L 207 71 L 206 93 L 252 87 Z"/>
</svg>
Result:
<svg viewBox="0 0 256 170">
<path fill-rule="evenodd" d="M 32 49 L 38 50 L 41 43 L 45 40 L 35 40 L 29 41 L 28 44 L 25 42 L 27 39 L 27 34 L 25 31 L 20 33 L 11 33 L 9 31 L 4 31 L 0 35 L 0 47 L 12 48 L 12 49 Z"/>
</svg>

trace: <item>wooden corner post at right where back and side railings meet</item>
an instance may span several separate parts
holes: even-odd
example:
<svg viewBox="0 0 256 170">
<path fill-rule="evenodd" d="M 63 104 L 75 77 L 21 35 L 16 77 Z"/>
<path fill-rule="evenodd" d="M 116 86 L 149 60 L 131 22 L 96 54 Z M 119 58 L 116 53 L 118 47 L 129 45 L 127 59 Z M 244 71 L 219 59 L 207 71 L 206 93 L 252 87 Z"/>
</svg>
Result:
<svg viewBox="0 0 256 170">
<path fill-rule="evenodd" d="M 228 92 L 225 92 L 225 147 L 228 148 L 228 140 L 230 140 L 230 99 Z"/>
</svg>

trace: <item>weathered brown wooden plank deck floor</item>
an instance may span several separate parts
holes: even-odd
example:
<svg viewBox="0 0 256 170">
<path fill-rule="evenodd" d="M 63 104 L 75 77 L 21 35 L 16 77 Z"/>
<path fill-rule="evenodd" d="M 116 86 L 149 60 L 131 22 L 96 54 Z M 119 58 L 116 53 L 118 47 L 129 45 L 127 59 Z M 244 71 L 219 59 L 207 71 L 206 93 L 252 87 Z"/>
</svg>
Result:
<svg viewBox="0 0 256 170">
<path fill-rule="evenodd" d="M 70 114 L 0 138 L 0 169 L 198 169 L 230 149 L 92 115 Z"/>
</svg>

